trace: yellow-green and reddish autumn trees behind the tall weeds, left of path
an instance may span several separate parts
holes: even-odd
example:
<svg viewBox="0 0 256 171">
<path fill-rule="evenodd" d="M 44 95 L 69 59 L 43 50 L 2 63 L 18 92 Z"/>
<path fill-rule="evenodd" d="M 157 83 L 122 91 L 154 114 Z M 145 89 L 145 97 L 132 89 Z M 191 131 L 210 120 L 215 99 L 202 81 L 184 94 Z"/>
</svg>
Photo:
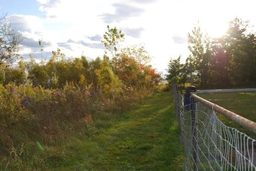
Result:
<svg viewBox="0 0 256 171">
<path fill-rule="evenodd" d="M 102 58 L 90 61 L 85 56 L 65 59 L 65 54 L 57 49 L 52 51 L 48 61 L 38 63 L 31 54 L 30 62 L 24 62 L 21 57 L 16 67 L 11 64 L 18 56 L 21 35 L 6 24 L 5 17 L 0 18 L 0 28 L 0 83 L 3 85 L 31 83 L 42 88 L 63 88 L 72 82 L 78 86 L 92 85 L 95 89 L 110 91 L 106 90 L 106 85 L 111 89 L 123 86 L 153 88 L 160 78 L 160 74 L 148 65 L 151 56 L 142 44 L 120 48 L 124 34 L 116 27 L 107 26 L 102 39 L 107 51 Z M 39 48 L 42 52 L 41 41 Z"/>
</svg>

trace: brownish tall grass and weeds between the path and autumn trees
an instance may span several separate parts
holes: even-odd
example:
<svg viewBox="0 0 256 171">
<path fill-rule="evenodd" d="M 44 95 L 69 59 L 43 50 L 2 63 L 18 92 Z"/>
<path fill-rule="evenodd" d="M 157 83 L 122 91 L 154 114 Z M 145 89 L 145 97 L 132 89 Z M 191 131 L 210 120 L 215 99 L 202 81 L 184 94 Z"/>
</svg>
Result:
<svg viewBox="0 0 256 171">
<path fill-rule="evenodd" d="M 124 87 L 113 100 L 90 85 L 66 83 L 62 89 L 0 85 L 0 170 L 33 168 L 41 161 L 36 151 L 44 150 L 43 145 L 65 140 L 74 130 L 93 131 L 93 120 L 129 109 L 152 90 Z"/>
</svg>

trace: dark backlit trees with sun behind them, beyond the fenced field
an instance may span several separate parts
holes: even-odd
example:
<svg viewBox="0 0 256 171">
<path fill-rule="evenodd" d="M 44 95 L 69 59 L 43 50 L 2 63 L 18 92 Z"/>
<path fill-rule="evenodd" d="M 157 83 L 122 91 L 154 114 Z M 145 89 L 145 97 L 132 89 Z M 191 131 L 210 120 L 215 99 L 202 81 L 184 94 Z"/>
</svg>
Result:
<svg viewBox="0 0 256 171">
<path fill-rule="evenodd" d="M 210 38 L 194 27 L 188 33 L 190 55 L 185 63 L 181 56 L 170 60 L 167 80 L 178 85 L 193 82 L 199 88 L 255 86 L 256 32 L 252 28 L 249 21 L 235 18 L 223 36 Z"/>
</svg>

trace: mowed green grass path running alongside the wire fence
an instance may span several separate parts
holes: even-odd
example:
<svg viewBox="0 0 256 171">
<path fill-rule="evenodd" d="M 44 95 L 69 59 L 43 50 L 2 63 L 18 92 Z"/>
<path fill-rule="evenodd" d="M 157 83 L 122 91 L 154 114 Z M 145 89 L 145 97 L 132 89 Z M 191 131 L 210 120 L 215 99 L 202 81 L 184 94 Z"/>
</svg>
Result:
<svg viewBox="0 0 256 171">
<path fill-rule="evenodd" d="M 170 92 L 154 93 L 127 113 L 97 121 L 94 133 L 63 148 L 62 156 L 51 158 L 52 170 L 181 171 L 185 160 Z"/>
</svg>

